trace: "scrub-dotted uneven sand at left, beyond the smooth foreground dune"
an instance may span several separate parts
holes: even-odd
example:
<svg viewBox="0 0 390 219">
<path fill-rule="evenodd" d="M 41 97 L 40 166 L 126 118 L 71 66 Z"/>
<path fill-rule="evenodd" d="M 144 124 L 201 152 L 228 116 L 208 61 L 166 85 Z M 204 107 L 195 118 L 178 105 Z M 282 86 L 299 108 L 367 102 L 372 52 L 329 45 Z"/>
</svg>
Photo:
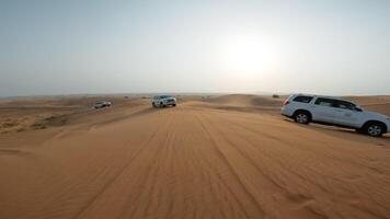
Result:
<svg viewBox="0 0 390 219">
<path fill-rule="evenodd" d="M 96 101 L 110 100 L 113 108 L 94 110 Z M 46 129 L 49 127 L 74 125 L 99 120 L 104 114 L 111 119 L 126 113 L 128 107 L 147 105 L 145 99 L 123 96 L 91 96 L 91 97 L 41 97 L 32 100 L 5 101 L 0 103 L 0 134 Z M 121 116 L 119 116 L 121 117 Z M 102 118 L 100 118 L 102 120 Z"/>
</svg>

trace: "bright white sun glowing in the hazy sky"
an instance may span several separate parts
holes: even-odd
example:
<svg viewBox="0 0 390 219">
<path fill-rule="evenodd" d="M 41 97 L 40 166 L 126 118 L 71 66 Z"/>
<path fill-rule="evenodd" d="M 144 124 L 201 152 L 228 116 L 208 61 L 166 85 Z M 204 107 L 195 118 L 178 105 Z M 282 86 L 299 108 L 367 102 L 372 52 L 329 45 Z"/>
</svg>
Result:
<svg viewBox="0 0 390 219">
<path fill-rule="evenodd" d="M 227 70 L 255 72 L 269 70 L 278 61 L 271 41 L 256 35 L 238 35 L 225 42 L 222 57 Z"/>
</svg>

